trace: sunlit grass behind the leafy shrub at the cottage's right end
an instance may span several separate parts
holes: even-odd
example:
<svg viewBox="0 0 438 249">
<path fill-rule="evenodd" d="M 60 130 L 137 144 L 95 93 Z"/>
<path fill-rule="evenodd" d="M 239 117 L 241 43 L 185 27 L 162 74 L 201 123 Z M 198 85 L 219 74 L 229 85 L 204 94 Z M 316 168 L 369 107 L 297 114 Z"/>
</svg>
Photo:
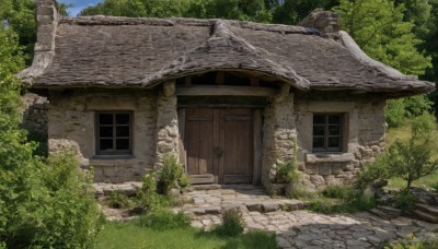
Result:
<svg viewBox="0 0 438 249">
<path fill-rule="evenodd" d="M 438 130 L 434 131 L 435 135 L 438 137 Z M 387 147 L 393 144 L 396 140 L 408 140 L 411 138 L 411 122 L 406 122 L 403 127 L 392 128 L 388 130 L 387 134 Z M 438 159 L 438 147 L 437 153 L 434 155 L 435 159 Z M 434 174 L 419 178 L 413 182 L 413 186 L 422 186 L 425 185 L 430 188 L 438 189 L 438 171 Z M 406 182 L 401 178 L 392 178 L 390 179 L 389 187 L 392 188 L 404 188 Z"/>
</svg>

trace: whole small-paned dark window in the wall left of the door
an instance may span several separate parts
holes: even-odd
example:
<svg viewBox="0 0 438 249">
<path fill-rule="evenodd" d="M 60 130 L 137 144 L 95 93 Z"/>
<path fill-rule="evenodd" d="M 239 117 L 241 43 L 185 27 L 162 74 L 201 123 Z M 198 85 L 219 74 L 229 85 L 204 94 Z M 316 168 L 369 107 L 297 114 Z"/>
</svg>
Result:
<svg viewBox="0 0 438 249">
<path fill-rule="evenodd" d="M 131 114 L 105 111 L 96 116 L 97 155 L 131 154 Z"/>
</svg>

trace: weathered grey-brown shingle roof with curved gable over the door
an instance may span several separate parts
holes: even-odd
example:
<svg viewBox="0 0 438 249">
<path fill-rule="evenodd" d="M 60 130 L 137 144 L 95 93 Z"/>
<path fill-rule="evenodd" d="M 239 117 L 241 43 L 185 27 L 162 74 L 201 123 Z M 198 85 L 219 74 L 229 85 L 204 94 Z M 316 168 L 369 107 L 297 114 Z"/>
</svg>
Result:
<svg viewBox="0 0 438 249">
<path fill-rule="evenodd" d="M 48 59 L 42 63 L 36 51 L 21 74 L 34 87 L 152 87 L 212 70 L 256 72 L 304 91 L 412 95 L 435 87 L 369 59 L 342 32 L 328 37 L 300 26 L 110 16 L 61 16 L 54 32 L 53 50 L 39 51 L 50 52 Z"/>
</svg>

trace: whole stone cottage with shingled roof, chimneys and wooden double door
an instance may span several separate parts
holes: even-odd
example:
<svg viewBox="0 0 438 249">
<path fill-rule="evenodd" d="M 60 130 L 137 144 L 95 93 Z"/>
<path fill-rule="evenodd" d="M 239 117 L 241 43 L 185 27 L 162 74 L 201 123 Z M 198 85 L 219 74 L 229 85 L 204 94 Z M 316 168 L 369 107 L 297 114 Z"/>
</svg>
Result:
<svg viewBox="0 0 438 249">
<path fill-rule="evenodd" d="M 37 0 L 32 67 L 49 151 L 73 146 L 95 181 L 136 181 L 180 158 L 195 183 L 262 183 L 296 159 L 309 189 L 354 179 L 384 150 L 389 98 L 434 85 L 367 57 L 337 15 L 300 26 L 66 17 Z"/>
</svg>

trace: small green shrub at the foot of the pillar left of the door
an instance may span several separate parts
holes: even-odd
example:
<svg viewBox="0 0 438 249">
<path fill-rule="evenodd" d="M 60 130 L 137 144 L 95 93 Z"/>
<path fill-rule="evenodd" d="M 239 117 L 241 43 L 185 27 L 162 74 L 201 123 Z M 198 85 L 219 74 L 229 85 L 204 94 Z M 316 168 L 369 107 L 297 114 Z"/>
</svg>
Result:
<svg viewBox="0 0 438 249">
<path fill-rule="evenodd" d="M 163 166 L 157 171 L 158 181 L 163 187 L 163 193 L 169 194 L 177 180 L 183 176 L 183 165 L 174 156 L 165 156 Z"/>
</svg>

